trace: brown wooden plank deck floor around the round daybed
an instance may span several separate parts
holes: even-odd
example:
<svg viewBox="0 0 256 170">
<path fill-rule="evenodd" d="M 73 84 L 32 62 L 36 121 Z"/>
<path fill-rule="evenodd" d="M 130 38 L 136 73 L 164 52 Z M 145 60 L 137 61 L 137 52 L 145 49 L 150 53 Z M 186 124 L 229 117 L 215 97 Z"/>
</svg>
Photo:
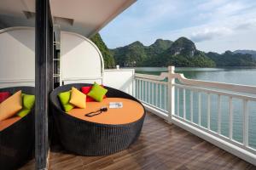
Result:
<svg viewBox="0 0 256 170">
<path fill-rule="evenodd" d="M 21 169 L 33 168 L 32 164 L 30 162 Z M 150 113 L 146 116 L 140 138 L 128 150 L 111 156 L 75 156 L 61 147 L 55 147 L 50 153 L 49 168 L 53 170 L 256 169 L 247 161 Z"/>
</svg>

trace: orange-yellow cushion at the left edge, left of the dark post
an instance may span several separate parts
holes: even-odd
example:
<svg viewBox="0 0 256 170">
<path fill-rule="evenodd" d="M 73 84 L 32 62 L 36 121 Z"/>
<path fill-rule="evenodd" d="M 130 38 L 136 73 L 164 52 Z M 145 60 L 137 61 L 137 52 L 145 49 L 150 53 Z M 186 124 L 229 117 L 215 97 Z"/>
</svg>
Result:
<svg viewBox="0 0 256 170">
<path fill-rule="evenodd" d="M 21 90 L 0 104 L 0 121 L 3 121 L 22 109 Z"/>
</svg>

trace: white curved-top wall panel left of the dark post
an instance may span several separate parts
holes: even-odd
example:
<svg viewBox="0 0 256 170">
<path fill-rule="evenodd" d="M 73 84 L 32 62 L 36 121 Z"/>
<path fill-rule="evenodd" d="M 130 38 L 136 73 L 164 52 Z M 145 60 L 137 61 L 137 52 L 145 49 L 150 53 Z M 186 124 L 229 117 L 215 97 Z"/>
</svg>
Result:
<svg viewBox="0 0 256 170">
<path fill-rule="evenodd" d="M 35 31 L 13 27 L 0 30 L 0 88 L 34 86 Z"/>
</svg>

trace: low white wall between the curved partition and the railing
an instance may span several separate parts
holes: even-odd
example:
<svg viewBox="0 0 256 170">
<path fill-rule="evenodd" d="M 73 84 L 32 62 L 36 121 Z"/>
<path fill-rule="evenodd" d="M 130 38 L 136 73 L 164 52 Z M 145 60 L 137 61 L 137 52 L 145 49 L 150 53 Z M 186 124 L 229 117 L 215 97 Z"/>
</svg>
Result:
<svg viewBox="0 0 256 170">
<path fill-rule="evenodd" d="M 134 86 L 134 69 L 105 70 L 103 76 L 103 84 L 117 88 L 127 94 L 133 95 Z"/>
</svg>

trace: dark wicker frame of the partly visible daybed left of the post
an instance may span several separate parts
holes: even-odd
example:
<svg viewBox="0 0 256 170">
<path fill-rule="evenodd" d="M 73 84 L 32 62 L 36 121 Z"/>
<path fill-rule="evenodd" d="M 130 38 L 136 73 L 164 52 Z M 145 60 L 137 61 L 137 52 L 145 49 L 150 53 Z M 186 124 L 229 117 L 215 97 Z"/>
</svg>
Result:
<svg viewBox="0 0 256 170">
<path fill-rule="evenodd" d="M 34 94 L 32 87 L 1 88 L 0 92 L 22 90 Z M 34 150 L 34 109 L 19 121 L 0 131 L 0 169 L 16 169 L 32 158 Z"/>
</svg>

